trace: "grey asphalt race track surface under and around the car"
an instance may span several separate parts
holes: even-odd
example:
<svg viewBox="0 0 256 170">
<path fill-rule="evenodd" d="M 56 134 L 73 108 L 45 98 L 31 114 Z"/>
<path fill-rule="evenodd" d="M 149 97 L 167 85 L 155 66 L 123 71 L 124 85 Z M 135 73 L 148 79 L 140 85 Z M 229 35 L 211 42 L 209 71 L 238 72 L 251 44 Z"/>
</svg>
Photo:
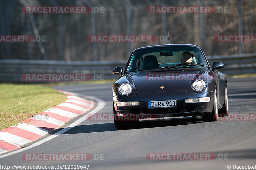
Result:
<svg viewBox="0 0 256 170">
<path fill-rule="evenodd" d="M 118 77 L 118 76 L 117 76 Z M 112 114 L 112 84 L 65 85 L 53 88 L 105 101 L 98 112 Z M 256 78 L 228 78 L 230 114 L 256 113 Z M 97 106 L 98 103 L 96 103 Z M 90 114 L 90 113 L 89 113 Z M 67 123 L 61 129 L 79 118 Z M 61 130 L 55 130 L 54 133 Z M 40 140 L 52 136 L 46 135 Z M 39 141 L 40 141 L 39 140 Z M 35 141 L 31 144 L 34 144 Z M 31 144 L 28 144 L 31 145 Z M 27 147 L 27 146 L 26 146 Z M 105 160 L 28 161 L 26 153 L 104 154 Z M 148 160 L 148 153 L 214 153 L 220 160 Z M 221 158 L 226 155 L 226 159 Z M 218 157 L 217 157 L 218 159 Z M 0 159 L 1 165 L 90 165 L 89 169 L 228 169 L 256 164 L 256 121 L 203 122 L 201 117 L 140 121 L 117 130 L 113 121 L 85 120 L 31 149 Z M 74 169 L 74 168 L 73 168 Z"/>
</svg>

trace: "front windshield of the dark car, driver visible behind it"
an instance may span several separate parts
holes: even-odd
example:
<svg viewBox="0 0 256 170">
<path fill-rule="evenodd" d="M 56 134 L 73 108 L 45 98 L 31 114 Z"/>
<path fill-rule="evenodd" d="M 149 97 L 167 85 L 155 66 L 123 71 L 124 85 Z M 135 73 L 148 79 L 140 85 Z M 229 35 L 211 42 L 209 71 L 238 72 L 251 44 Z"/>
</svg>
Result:
<svg viewBox="0 0 256 170">
<path fill-rule="evenodd" d="M 174 46 L 136 50 L 126 72 L 163 68 L 207 67 L 199 48 Z"/>
</svg>

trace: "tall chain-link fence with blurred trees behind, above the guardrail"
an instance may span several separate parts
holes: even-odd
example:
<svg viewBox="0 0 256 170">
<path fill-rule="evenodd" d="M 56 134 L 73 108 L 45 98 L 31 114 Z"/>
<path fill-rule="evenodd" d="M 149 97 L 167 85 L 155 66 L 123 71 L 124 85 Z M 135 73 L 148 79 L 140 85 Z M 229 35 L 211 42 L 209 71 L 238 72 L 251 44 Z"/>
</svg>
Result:
<svg viewBox="0 0 256 170">
<path fill-rule="evenodd" d="M 87 6 L 90 13 L 24 13 L 25 6 Z M 211 13 L 150 13 L 152 6 L 211 6 Z M 100 11 L 101 10 L 101 11 Z M 0 59 L 121 61 L 133 49 L 196 44 L 206 55 L 255 53 L 256 42 L 220 42 L 217 35 L 256 35 L 256 0 L 1 0 L 0 35 L 36 42 L 0 42 Z M 154 41 L 91 42 L 93 35 L 151 35 Z M 42 38 L 46 37 L 46 42 Z"/>
</svg>

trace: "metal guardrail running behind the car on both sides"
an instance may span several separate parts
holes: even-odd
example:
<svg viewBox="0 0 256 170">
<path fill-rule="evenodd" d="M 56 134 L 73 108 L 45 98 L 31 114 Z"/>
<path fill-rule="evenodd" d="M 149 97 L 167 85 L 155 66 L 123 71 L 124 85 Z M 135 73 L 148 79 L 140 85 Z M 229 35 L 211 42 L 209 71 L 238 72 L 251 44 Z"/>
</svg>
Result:
<svg viewBox="0 0 256 170">
<path fill-rule="evenodd" d="M 207 56 L 208 62 L 220 61 L 224 74 L 256 73 L 256 53 L 243 55 Z M 0 60 L 0 82 L 24 82 L 22 74 L 98 74 L 103 79 L 118 78 L 112 74 L 127 61 L 56 61 L 56 60 Z"/>
</svg>

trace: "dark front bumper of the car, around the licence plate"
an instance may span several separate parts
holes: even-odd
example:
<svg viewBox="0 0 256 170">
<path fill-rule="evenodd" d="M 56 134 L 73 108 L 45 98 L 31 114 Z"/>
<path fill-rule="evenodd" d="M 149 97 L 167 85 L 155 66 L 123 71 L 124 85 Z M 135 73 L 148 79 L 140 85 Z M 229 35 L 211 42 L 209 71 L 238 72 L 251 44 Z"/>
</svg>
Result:
<svg viewBox="0 0 256 170">
<path fill-rule="evenodd" d="M 187 91 L 147 92 L 132 97 L 113 97 L 115 116 L 136 115 L 136 118 L 160 118 L 175 116 L 199 116 L 212 112 L 214 91 L 206 93 L 188 93 Z M 210 97 L 209 102 L 186 103 L 188 98 Z M 148 108 L 148 101 L 176 100 L 177 107 Z M 117 101 L 138 101 L 138 106 L 117 107 Z"/>
</svg>

